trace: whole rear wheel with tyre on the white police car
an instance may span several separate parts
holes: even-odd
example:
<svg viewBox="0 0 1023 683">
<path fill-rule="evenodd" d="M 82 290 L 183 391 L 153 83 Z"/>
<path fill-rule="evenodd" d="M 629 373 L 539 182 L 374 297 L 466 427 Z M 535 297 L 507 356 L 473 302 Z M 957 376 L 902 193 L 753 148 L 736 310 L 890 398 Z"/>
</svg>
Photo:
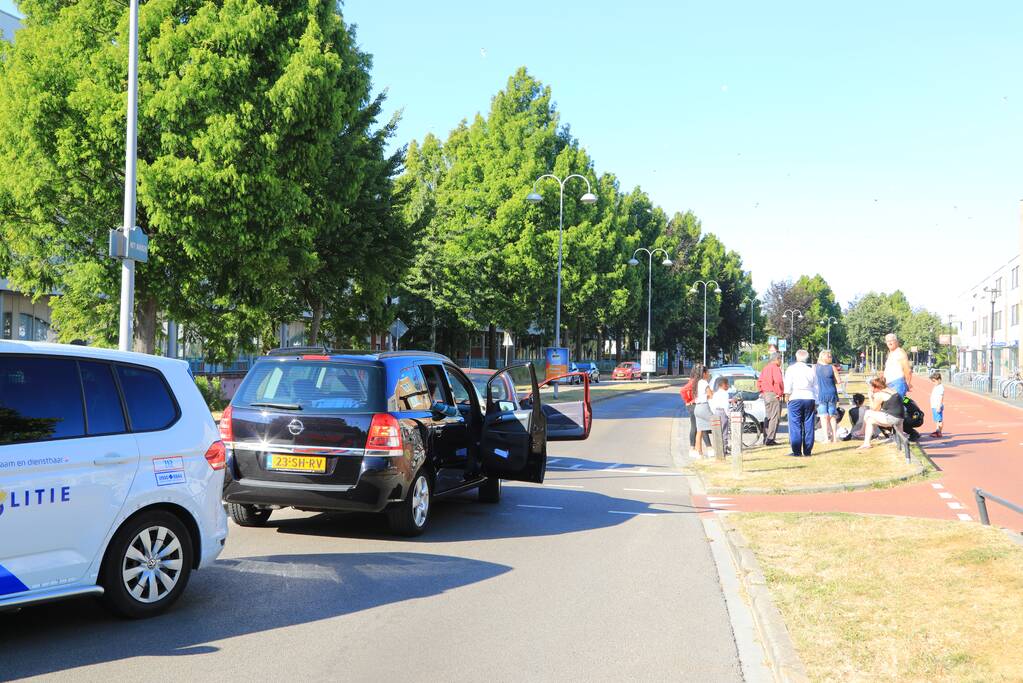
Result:
<svg viewBox="0 0 1023 683">
<path fill-rule="evenodd" d="M 128 619 L 155 617 L 181 597 L 193 558 L 191 536 L 177 515 L 142 512 L 110 539 L 100 568 L 103 599 Z"/>
</svg>

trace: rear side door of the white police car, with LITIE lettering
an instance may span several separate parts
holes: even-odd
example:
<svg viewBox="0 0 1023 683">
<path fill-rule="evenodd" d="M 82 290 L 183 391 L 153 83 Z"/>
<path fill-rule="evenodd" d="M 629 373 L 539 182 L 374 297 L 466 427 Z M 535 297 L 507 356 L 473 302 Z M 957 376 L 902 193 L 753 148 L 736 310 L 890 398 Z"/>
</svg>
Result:
<svg viewBox="0 0 1023 683">
<path fill-rule="evenodd" d="M 137 467 L 109 364 L 0 353 L 0 601 L 93 583 Z"/>
</svg>

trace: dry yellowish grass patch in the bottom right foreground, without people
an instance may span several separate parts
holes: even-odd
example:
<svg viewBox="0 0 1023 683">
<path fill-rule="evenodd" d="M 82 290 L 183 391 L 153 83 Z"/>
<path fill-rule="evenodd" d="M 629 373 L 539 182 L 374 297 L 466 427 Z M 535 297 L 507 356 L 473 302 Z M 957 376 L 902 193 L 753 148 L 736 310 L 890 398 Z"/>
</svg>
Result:
<svg viewBox="0 0 1023 683">
<path fill-rule="evenodd" d="M 1023 680 L 1023 548 L 961 521 L 744 513 L 814 681 Z"/>
</svg>

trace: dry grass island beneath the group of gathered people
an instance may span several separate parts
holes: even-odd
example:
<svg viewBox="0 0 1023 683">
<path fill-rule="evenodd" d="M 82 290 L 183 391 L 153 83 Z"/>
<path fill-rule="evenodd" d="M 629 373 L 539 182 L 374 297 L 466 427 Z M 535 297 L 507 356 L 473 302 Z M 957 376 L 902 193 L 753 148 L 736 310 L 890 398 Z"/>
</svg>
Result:
<svg viewBox="0 0 1023 683">
<path fill-rule="evenodd" d="M 779 440 L 788 439 L 779 435 Z M 869 451 L 858 451 L 859 441 L 813 446 L 813 456 L 794 458 L 788 441 L 779 446 L 756 448 L 743 453 L 743 472 L 731 471 L 730 460 L 697 460 L 694 466 L 707 486 L 741 493 L 744 489 L 769 489 L 776 493 L 805 487 L 822 487 L 889 481 L 911 474 L 919 467 L 905 461 L 893 445 L 875 444 Z"/>
</svg>

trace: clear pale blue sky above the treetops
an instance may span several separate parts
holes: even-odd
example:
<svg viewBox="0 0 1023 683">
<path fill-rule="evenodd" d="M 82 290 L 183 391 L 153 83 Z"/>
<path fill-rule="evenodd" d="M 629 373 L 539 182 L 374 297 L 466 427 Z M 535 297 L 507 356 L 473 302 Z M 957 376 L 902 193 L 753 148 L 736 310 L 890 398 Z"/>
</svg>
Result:
<svg viewBox="0 0 1023 683">
<path fill-rule="evenodd" d="M 761 289 L 819 272 L 843 303 L 901 288 L 946 313 L 1020 249 L 1023 3 L 347 0 L 344 14 L 403 111 L 401 142 L 485 111 L 526 65 L 598 173 L 692 209 Z"/>
</svg>

